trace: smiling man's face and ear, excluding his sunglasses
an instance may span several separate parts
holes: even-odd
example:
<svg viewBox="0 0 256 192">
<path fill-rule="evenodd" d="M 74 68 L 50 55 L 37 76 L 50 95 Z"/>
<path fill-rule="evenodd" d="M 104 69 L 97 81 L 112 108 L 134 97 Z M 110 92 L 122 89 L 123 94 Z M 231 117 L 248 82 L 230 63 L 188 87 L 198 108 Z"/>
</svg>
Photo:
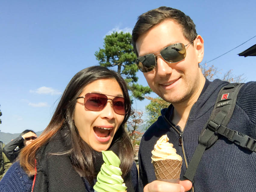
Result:
<svg viewBox="0 0 256 192">
<path fill-rule="evenodd" d="M 154 26 L 136 41 L 139 56 L 148 53 L 160 54 L 160 50 L 175 43 L 189 44 L 183 36 L 180 25 L 172 20 L 164 20 Z M 194 46 L 186 46 L 186 58 L 180 62 L 168 63 L 158 55 L 155 69 L 143 73 L 149 87 L 167 102 L 189 101 L 202 83 L 202 73 L 198 67 L 203 59 L 203 39 L 198 36 Z"/>
</svg>

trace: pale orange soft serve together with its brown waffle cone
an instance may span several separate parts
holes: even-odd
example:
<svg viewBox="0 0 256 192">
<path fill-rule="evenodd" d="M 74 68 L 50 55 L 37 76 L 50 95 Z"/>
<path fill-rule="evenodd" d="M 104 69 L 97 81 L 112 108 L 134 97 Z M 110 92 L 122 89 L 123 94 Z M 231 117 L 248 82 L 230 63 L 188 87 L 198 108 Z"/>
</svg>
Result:
<svg viewBox="0 0 256 192">
<path fill-rule="evenodd" d="M 152 151 L 152 161 L 157 180 L 179 183 L 182 157 L 176 154 L 167 135 L 161 136 Z"/>
</svg>

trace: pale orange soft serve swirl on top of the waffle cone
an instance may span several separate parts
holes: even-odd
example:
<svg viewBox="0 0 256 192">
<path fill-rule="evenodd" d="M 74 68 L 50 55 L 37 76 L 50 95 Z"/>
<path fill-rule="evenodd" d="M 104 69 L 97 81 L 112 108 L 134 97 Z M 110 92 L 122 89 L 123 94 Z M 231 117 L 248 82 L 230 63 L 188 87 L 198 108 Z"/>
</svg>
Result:
<svg viewBox="0 0 256 192">
<path fill-rule="evenodd" d="M 152 153 L 152 161 L 173 159 L 182 161 L 180 155 L 176 154 L 176 149 L 173 148 L 173 144 L 169 143 L 169 138 L 167 135 L 161 136 L 161 138 L 156 142 L 154 150 Z"/>
</svg>

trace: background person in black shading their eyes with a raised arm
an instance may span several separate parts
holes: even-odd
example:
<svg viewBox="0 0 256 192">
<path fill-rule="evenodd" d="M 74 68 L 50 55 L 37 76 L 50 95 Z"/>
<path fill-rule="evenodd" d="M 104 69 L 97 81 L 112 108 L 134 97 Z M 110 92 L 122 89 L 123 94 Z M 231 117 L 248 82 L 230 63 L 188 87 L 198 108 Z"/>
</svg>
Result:
<svg viewBox="0 0 256 192">
<path fill-rule="evenodd" d="M 20 150 L 33 142 L 33 140 L 36 138 L 37 135 L 33 130 L 24 130 L 22 133 L 20 133 L 20 136 L 11 140 L 11 142 L 5 145 L 3 152 L 11 162 L 14 162 Z"/>
</svg>

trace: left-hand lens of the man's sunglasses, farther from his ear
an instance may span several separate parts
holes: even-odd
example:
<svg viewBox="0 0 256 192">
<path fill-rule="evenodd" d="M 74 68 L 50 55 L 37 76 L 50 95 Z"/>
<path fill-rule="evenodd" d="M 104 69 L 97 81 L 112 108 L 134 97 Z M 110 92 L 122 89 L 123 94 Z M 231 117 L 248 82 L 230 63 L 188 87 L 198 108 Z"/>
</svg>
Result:
<svg viewBox="0 0 256 192">
<path fill-rule="evenodd" d="M 155 68 L 155 55 L 148 54 L 136 59 L 136 65 L 143 73 L 150 72 Z"/>
</svg>

